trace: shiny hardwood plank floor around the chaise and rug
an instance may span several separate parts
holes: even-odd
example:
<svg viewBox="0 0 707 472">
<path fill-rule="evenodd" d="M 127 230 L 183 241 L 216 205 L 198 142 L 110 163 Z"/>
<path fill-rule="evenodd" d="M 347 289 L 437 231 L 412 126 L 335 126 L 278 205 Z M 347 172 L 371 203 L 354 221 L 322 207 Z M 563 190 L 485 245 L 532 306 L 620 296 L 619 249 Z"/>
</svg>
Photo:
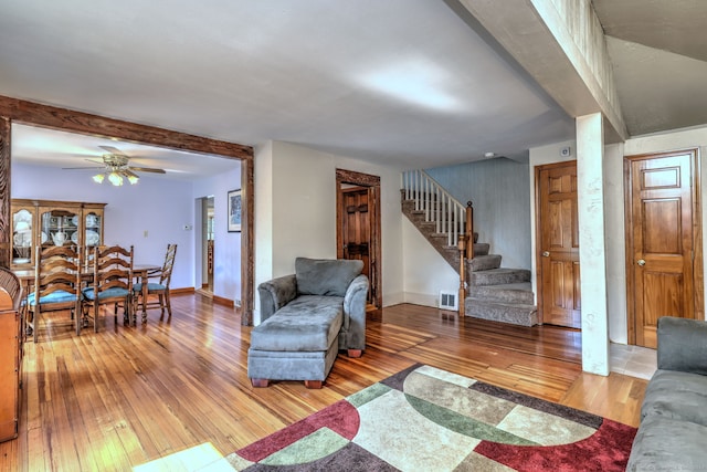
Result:
<svg viewBox="0 0 707 472">
<path fill-rule="evenodd" d="M 369 314 L 367 350 L 339 355 L 325 387 L 254 389 L 251 327 L 200 295 L 138 327 L 73 333 L 54 315 L 25 344 L 20 436 L 0 443 L 0 470 L 130 470 L 203 442 L 228 454 L 415 363 L 637 426 L 645 380 L 581 371 L 581 338 L 398 305 Z"/>
</svg>

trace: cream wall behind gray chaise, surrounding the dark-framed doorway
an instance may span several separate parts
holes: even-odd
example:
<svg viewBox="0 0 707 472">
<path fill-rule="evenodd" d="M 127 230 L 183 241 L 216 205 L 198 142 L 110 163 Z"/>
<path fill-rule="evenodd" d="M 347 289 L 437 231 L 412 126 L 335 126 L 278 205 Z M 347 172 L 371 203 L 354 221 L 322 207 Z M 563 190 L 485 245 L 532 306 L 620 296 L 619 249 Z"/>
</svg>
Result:
<svg viewBox="0 0 707 472">
<path fill-rule="evenodd" d="M 295 258 L 336 258 L 336 169 L 381 178 L 383 305 L 403 300 L 400 169 L 271 141 L 255 148 L 255 287 Z M 260 322 L 256 297 L 254 319 Z"/>
</svg>

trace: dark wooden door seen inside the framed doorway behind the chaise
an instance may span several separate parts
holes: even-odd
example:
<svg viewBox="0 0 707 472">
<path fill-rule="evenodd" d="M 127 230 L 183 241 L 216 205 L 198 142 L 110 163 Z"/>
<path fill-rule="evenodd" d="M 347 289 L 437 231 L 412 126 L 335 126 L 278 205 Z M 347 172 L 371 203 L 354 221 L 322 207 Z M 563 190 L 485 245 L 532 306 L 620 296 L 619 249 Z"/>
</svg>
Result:
<svg viewBox="0 0 707 472">
<path fill-rule="evenodd" d="M 372 280 L 370 190 L 367 187 L 354 187 L 342 189 L 341 193 L 344 259 L 363 261 L 362 273 Z M 368 298 L 371 302 L 371 291 L 368 292 Z"/>
</svg>

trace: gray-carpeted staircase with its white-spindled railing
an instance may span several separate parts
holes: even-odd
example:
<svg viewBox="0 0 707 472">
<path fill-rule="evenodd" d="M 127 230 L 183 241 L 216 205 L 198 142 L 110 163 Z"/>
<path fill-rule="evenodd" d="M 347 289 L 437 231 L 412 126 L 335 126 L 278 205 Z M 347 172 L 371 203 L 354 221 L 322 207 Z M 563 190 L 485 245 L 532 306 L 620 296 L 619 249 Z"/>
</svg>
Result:
<svg viewBox="0 0 707 472">
<path fill-rule="evenodd" d="M 454 200 L 423 171 L 403 174 L 402 212 L 422 235 L 460 272 L 458 237 L 465 219 Z M 465 314 L 521 326 L 538 324 L 530 271 L 502 268 L 502 256 L 489 254 L 489 244 L 479 243 L 474 233 L 474 256 L 466 259 L 467 291 Z"/>
</svg>

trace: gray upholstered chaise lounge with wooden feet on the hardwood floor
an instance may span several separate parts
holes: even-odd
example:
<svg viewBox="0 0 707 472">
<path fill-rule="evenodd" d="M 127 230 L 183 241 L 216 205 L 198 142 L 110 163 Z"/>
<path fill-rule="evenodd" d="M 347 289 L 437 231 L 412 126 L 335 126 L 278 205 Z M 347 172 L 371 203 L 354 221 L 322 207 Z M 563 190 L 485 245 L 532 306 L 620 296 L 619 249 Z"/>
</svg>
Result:
<svg viewBox="0 0 707 472">
<path fill-rule="evenodd" d="M 251 332 L 247 376 L 321 388 L 339 349 L 366 348 L 368 277 L 361 261 L 297 258 L 295 273 L 258 285 L 261 324 Z"/>
</svg>

